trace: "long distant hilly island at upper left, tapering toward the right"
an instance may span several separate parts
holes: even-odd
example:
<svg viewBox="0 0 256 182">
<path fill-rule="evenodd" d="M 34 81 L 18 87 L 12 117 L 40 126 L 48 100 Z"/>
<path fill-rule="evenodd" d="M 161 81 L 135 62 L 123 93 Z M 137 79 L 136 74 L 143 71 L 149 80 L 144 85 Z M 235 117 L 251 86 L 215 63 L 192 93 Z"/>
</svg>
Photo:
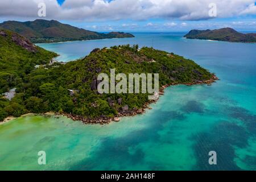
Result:
<svg viewBox="0 0 256 182">
<path fill-rule="evenodd" d="M 37 19 L 33 22 L 7 21 L 0 23 L 0 28 L 16 32 L 32 43 L 55 43 L 75 40 L 133 38 L 134 35 L 124 32 L 101 34 L 63 24 L 56 20 Z"/>
</svg>

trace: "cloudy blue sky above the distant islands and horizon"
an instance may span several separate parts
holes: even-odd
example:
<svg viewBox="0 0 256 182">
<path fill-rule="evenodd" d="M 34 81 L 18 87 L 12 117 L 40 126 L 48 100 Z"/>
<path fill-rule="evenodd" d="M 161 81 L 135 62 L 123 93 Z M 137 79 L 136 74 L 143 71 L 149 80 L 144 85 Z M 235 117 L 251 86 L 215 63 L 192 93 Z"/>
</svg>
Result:
<svg viewBox="0 0 256 182">
<path fill-rule="evenodd" d="M 256 31 L 256 0 L 0 0 L 0 22 L 59 20 L 92 31 Z M 40 3 L 46 16 L 38 16 Z"/>
</svg>

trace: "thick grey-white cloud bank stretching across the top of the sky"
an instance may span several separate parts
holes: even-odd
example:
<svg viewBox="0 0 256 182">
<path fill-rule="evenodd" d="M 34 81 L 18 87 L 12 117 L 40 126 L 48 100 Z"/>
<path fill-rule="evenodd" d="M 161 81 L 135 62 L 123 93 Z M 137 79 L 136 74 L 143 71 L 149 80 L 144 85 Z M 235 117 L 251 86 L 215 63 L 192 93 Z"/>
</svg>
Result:
<svg viewBox="0 0 256 182">
<path fill-rule="evenodd" d="M 209 3 L 216 3 L 219 18 L 256 14 L 254 0 L 0 0 L 0 16 L 38 18 L 38 3 L 47 6 L 47 19 L 119 20 L 148 18 L 209 19 Z"/>
</svg>

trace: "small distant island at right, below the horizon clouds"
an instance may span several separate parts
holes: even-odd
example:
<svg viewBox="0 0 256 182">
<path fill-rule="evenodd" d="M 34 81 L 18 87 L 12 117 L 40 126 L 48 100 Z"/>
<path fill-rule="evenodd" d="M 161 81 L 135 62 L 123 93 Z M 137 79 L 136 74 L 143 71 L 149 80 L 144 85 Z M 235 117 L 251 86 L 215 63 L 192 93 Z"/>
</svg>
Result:
<svg viewBox="0 0 256 182">
<path fill-rule="evenodd" d="M 225 42 L 256 43 L 256 34 L 242 34 L 232 28 L 218 30 L 191 30 L 184 35 L 187 39 L 219 40 Z"/>
</svg>

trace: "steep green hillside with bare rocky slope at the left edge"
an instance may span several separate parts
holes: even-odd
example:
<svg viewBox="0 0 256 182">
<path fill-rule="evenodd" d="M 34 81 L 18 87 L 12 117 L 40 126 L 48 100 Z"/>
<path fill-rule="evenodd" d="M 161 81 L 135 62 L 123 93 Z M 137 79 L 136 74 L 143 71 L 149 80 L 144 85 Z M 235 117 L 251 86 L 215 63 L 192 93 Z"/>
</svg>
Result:
<svg viewBox="0 0 256 182">
<path fill-rule="evenodd" d="M 22 84 L 35 65 L 47 64 L 56 56 L 18 34 L 0 30 L 0 93 Z"/>
</svg>

